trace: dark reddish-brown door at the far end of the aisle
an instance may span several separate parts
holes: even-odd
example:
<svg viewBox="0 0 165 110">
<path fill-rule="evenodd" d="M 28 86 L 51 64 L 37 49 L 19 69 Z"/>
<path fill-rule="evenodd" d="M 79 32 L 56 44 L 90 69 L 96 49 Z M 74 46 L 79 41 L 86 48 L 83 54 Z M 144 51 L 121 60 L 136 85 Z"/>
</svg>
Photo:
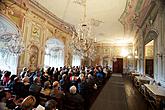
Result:
<svg viewBox="0 0 165 110">
<path fill-rule="evenodd" d="M 122 58 L 117 58 L 116 61 L 113 61 L 113 72 L 123 73 L 123 59 Z"/>
</svg>

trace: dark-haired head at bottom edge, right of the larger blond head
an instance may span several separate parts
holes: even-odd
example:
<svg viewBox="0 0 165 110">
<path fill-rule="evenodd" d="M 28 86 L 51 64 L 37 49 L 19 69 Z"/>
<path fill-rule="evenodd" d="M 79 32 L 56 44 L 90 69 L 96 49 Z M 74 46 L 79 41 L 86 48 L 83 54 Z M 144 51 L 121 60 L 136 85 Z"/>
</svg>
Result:
<svg viewBox="0 0 165 110">
<path fill-rule="evenodd" d="M 55 100 L 53 99 L 48 100 L 45 103 L 45 110 L 56 110 L 56 105 L 57 105 L 57 102 Z"/>
</svg>

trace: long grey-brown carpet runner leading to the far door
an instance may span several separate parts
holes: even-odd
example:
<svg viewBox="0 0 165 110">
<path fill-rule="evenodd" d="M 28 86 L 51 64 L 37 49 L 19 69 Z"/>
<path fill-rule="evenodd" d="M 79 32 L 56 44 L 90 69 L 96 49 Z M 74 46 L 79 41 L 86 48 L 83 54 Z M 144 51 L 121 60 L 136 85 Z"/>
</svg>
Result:
<svg viewBox="0 0 165 110">
<path fill-rule="evenodd" d="M 112 75 L 90 110 L 128 110 L 121 74 Z"/>
</svg>

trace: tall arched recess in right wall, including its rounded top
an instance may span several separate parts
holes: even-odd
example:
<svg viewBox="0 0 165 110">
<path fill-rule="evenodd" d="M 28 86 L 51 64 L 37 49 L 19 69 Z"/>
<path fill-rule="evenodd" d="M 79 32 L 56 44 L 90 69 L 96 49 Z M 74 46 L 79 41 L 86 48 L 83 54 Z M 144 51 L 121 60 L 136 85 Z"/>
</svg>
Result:
<svg viewBox="0 0 165 110">
<path fill-rule="evenodd" d="M 157 37 L 157 31 L 151 29 L 144 38 L 144 73 L 152 78 L 157 77 L 159 70 Z"/>
</svg>

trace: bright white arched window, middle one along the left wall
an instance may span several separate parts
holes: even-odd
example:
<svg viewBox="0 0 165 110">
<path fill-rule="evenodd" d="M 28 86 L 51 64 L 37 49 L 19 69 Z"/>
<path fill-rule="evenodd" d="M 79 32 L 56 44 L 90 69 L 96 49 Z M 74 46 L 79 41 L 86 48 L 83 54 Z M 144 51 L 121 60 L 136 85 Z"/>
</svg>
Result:
<svg viewBox="0 0 165 110">
<path fill-rule="evenodd" d="M 64 44 L 56 38 L 46 41 L 44 67 L 64 66 Z"/>
</svg>

